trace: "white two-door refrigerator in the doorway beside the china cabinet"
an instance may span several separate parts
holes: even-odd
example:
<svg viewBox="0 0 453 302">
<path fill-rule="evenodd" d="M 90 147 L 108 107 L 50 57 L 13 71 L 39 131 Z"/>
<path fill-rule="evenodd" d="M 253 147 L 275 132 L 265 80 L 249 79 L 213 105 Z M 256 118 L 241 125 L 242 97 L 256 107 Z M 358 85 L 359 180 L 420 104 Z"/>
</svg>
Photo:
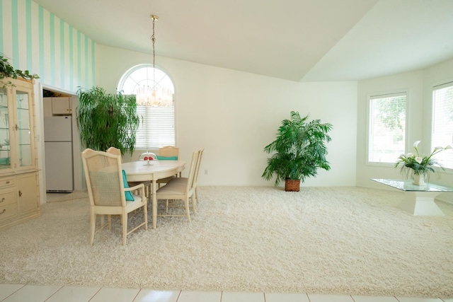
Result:
<svg viewBox="0 0 453 302">
<path fill-rule="evenodd" d="M 44 117 L 45 182 L 47 192 L 73 192 L 71 116 Z"/>
</svg>

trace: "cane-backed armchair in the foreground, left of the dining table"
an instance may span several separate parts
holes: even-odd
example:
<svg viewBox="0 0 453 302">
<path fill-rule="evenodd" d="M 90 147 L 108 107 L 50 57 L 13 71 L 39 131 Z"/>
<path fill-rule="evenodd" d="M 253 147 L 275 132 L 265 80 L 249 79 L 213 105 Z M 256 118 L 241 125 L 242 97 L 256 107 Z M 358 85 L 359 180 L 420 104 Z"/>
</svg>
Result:
<svg viewBox="0 0 453 302">
<path fill-rule="evenodd" d="M 144 226 L 148 229 L 147 198 L 143 184 L 127 187 L 125 173 L 121 168 L 121 156 L 103 151 L 85 149 L 81 153 L 88 199 L 90 200 L 90 244 L 93 245 L 94 235 L 105 226 L 111 229 L 111 215 L 119 215 L 122 223 L 122 245 L 126 244 L 126 236 Z M 139 194 L 132 194 L 137 191 Z M 127 231 L 127 214 L 135 209 L 143 208 L 144 221 Z M 104 223 L 104 216 L 108 221 Z M 96 218 L 101 216 L 101 226 L 96 230 Z"/>
</svg>

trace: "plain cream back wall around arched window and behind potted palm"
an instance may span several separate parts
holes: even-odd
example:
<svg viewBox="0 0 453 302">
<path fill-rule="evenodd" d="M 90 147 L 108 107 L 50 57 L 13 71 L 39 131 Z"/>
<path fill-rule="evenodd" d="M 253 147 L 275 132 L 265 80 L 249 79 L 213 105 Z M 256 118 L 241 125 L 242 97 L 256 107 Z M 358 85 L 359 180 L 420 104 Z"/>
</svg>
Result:
<svg viewBox="0 0 453 302">
<path fill-rule="evenodd" d="M 96 54 L 96 83 L 108 92 L 127 69 L 151 63 L 151 54 L 102 45 Z M 356 82 L 296 83 L 166 57 L 156 57 L 156 66 L 175 85 L 180 157 L 188 161 L 191 151 L 205 147 L 200 185 L 273 185 L 261 178 L 263 148 L 294 110 L 333 124 L 331 170 L 304 185 L 355 186 Z"/>
</svg>

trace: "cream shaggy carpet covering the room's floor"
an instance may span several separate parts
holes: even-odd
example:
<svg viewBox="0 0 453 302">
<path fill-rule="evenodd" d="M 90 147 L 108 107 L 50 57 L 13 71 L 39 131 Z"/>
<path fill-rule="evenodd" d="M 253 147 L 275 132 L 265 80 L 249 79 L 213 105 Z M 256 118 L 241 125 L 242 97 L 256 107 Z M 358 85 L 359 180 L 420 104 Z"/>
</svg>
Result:
<svg viewBox="0 0 453 302">
<path fill-rule="evenodd" d="M 0 283 L 453 297 L 453 205 L 437 202 L 446 216 L 412 216 L 396 207 L 402 198 L 201 187 L 192 223 L 159 217 L 126 246 L 117 219 L 88 245 L 88 199 L 54 202 L 0 231 Z"/>
</svg>

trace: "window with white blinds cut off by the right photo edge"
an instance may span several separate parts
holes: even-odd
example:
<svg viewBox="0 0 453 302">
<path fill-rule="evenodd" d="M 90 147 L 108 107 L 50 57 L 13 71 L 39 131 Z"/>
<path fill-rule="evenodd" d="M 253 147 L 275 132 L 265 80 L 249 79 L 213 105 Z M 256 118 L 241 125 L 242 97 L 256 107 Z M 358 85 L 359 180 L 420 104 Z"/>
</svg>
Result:
<svg viewBox="0 0 453 302">
<path fill-rule="evenodd" d="M 435 86 L 432 91 L 431 146 L 453 145 L 453 82 Z M 437 153 L 435 159 L 444 168 L 453 169 L 453 151 Z"/>
</svg>

